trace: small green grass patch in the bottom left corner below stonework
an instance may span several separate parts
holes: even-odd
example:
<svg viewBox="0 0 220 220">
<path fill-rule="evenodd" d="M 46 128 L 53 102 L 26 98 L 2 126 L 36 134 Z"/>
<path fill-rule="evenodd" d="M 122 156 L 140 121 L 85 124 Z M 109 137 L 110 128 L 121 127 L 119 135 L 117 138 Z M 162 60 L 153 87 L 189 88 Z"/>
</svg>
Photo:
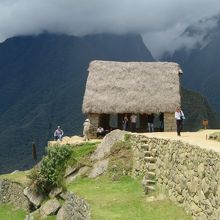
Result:
<svg viewBox="0 0 220 220">
<path fill-rule="evenodd" d="M 0 205 L 1 220 L 24 220 L 26 212 L 22 209 L 15 209 L 11 205 Z"/>
</svg>

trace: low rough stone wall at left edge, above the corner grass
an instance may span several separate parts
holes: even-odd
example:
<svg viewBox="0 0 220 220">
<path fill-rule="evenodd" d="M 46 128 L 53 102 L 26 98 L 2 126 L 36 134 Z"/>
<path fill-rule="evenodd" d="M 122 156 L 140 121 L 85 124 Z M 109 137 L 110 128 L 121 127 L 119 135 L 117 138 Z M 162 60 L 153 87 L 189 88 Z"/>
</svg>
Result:
<svg viewBox="0 0 220 220">
<path fill-rule="evenodd" d="M 0 180 L 0 204 L 10 203 L 17 208 L 27 211 L 31 208 L 31 203 L 23 194 L 23 186 L 9 180 Z"/>
</svg>

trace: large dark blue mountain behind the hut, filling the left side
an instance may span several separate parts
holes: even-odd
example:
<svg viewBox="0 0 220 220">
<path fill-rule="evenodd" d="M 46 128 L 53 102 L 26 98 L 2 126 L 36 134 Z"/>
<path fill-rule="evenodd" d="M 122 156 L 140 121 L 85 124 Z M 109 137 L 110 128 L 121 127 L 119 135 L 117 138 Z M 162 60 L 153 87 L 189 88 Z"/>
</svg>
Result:
<svg viewBox="0 0 220 220">
<path fill-rule="evenodd" d="M 82 99 L 91 60 L 153 61 L 139 35 L 41 34 L 0 44 L 0 173 L 33 165 L 60 125 L 81 134 Z"/>
</svg>

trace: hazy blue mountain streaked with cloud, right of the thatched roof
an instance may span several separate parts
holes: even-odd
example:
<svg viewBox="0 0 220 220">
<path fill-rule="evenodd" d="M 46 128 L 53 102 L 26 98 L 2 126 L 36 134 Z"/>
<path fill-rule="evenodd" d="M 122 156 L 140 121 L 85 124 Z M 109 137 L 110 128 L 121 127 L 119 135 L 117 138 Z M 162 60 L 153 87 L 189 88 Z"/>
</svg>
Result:
<svg viewBox="0 0 220 220">
<path fill-rule="evenodd" d="M 183 69 L 183 85 L 204 95 L 220 115 L 220 15 L 203 19 L 189 26 L 176 40 L 183 37 L 193 48 L 181 47 L 162 60 L 178 62 Z"/>
</svg>

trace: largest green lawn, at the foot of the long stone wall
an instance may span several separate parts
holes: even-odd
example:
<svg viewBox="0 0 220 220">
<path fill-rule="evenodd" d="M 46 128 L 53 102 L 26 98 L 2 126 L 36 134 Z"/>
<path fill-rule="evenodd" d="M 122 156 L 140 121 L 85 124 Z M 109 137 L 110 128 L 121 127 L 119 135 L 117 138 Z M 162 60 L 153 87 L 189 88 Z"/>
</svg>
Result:
<svg viewBox="0 0 220 220">
<path fill-rule="evenodd" d="M 68 189 L 90 204 L 92 220 L 191 220 L 169 200 L 147 202 L 138 180 L 78 179 Z"/>
</svg>

